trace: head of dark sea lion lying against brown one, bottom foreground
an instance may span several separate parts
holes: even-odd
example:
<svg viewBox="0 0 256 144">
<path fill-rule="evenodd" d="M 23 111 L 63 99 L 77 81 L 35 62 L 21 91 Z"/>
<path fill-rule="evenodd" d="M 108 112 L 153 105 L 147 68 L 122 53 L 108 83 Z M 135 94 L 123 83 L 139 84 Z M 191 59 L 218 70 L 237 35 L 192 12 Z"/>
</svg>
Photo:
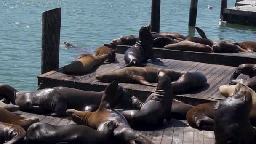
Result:
<svg viewBox="0 0 256 144">
<path fill-rule="evenodd" d="M 116 122 L 113 120 L 102 122 L 99 124 L 97 131 L 100 131 L 103 134 L 112 135 L 114 132 L 115 126 L 116 126 Z"/>
</svg>

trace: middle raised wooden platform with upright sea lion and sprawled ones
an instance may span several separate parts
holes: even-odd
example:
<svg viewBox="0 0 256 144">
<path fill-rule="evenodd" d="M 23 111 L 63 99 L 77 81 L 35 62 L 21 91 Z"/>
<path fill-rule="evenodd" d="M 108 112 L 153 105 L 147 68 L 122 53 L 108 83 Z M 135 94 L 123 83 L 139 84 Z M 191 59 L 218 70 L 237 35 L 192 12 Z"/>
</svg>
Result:
<svg viewBox="0 0 256 144">
<path fill-rule="evenodd" d="M 101 83 L 95 76 L 101 72 L 112 72 L 124 68 L 124 55 L 116 54 L 115 63 L 105 62 L 99 66 L 95 72 L 86 75 L 67 75 L 63 73 L 62 68 L 47 72 L 38 76 L 38 85 L 42 88 L 52 88 L 56 86 L 66 86 L 87 91 L 104 91 L 109 83 Z M 193 61 L 179 61 L 173 59 L 159 59 L 152 63 L 147 63 L 146 67 L 156 67 L 163 69 L 173 69 L 178 72 L 200 71 L 207 77 L 208 85 L 198 91 L 176 94 L 175 99 L 188 104 L 196 105 L 208 101 L 216 101 L 214 98 L 222 98 L 219 92 L 219 86 L 228 84 L 229 78 L 236 67 L 205 64 Z M 120 83 L 125 88 L 124 99 L 121 102 L 121 108 L 131 108 L 131 96 L 137 96 L 141 100 L 146 100 L 156 88 L 140 84 Z"/>
</svg>

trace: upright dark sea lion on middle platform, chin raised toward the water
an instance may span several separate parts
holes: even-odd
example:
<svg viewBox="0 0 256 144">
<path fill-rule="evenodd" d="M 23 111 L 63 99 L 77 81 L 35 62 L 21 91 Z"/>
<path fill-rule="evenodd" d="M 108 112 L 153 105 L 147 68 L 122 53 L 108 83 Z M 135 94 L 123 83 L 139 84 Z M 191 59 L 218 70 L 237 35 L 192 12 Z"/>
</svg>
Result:
<svg viewBox="0 0 256 144">
<path fill-rule="evenodd" d="M 153 38 L 150 32 L 151 25 L 142 26 L 139 30 L 139 38 L 135 45 L 125 52 L 125 66 L 142 66 L 148 59 L 155 60 L 153 57 Z"/>
</svg>

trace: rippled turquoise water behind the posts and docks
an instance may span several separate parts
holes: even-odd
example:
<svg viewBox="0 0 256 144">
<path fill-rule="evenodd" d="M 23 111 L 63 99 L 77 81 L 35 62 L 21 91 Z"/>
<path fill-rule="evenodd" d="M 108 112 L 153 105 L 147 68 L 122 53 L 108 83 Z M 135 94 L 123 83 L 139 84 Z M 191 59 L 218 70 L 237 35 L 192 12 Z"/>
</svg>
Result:
<svg viewBox="0 0 256 144">
<path fill-rule="evenodd" d="M 235 0 L 229 0 L 233 6 Z M 188 30 L 189 0 L 161 0 L 160 31 Z M 197 27 L 212 40 L 254 40 L 256 27 L 219 25 L 221 0 L 199 0 Z M 207 5 L 212 5 L 209 10 Z M 0 0 L 0 83 L 19 91 L 37 89 L 41 67 L 41 14 L 62 7 L 59 67 L 80 53 L 64 41 L 95 49 L 120 35 L 138 35 L 150 23 L 151 0 Z"/>
</svg>

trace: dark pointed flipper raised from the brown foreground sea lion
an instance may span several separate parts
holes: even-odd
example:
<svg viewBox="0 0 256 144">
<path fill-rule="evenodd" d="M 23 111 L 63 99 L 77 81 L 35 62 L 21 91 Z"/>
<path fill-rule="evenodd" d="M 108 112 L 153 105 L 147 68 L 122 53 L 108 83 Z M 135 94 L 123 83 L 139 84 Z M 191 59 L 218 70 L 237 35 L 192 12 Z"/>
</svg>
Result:
<svg viewBox="0 0 256 144">
<path fill-rule="evenodd" d="M 106 107 L 111 108 L 115 100 L 118 99 L 117 96 L 119 95 L 117 91 L 118 91 L 118 80 L 114 80 L 112 81 L 112 83 L 107 85 L 107 88 L 105 89 L 104 94 L 101 98 L 99 109 L 106 108 Z M 117 93 L 117 94 L 113 97 L 112 93 Z"/>
</svg>

